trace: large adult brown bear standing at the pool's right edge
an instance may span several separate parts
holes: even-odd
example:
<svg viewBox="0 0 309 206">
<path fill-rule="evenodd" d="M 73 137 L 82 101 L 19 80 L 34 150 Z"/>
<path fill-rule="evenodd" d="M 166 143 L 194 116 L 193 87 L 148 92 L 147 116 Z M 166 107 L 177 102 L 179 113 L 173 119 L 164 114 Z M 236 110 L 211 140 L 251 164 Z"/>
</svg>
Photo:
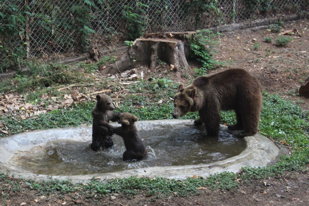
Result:
<svg viewBox="0 0 309 206">
<path fill-rule="evenodd" d="M 237 136 L 256 134 L 262 93 L 260 82 L 244 69 L 226 69 L 222 72 L 200 76 L 184 87 L 179 85 L 174 97 L 173 117 L 198 111 L 200 118 L 195 125 L 204 123 L 207 134 L 216 136 L 219 132 L 220 110 L 235 110 L 237 123 L 230 130 L 244 130 Z"/>
</svg>

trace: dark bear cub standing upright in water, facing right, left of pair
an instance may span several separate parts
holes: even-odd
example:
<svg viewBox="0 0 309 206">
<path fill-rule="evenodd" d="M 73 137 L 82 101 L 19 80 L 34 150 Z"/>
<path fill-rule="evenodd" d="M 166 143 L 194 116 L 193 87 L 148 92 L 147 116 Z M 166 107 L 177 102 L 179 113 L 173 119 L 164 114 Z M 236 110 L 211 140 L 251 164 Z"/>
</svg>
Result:
<svg viewBox="0 0 309 206">
<path fill-rule="evenodd" d="M 100 147 L 110 148 L 114 145 L 112 140 L 113 131 L 110 128 L 99 123 L 99 121 L 113 122 L 119 121 L 119 114 L 115 114 L 113 110 L 111 91 L 106 94 L 96 95 L 97 102 L 93 108 L 92 114 L 92 143 L 90 145 L 93 151 L 98 151 Z"/>
</svg>

